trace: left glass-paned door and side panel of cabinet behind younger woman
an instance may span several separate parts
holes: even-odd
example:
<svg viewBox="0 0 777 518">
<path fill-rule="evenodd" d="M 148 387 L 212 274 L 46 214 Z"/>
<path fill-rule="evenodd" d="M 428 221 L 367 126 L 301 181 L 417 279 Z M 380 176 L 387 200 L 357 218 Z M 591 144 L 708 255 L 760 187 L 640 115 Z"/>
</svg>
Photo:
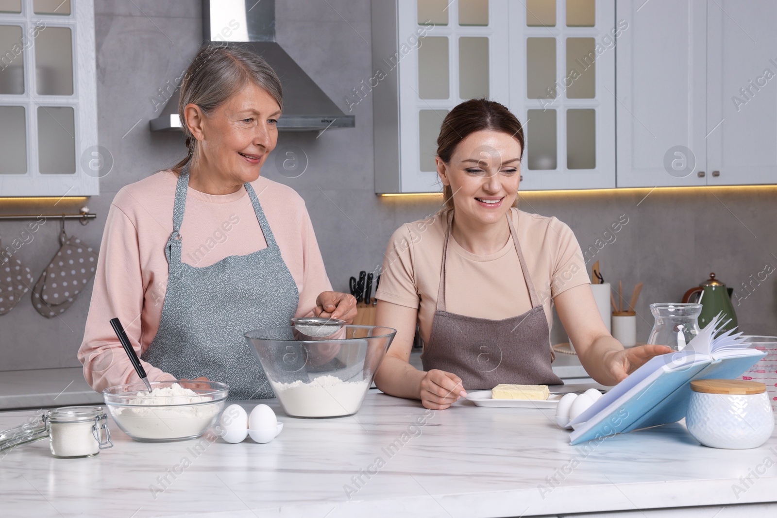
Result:
<svg viewBox="0 0 777 518">
<path fill-rule="evenodd" d="M 507 0 L 372 2 L 375 192 L 434 193 L 437 134 L 474 97 L 507 105 Z"/>
</svg>

